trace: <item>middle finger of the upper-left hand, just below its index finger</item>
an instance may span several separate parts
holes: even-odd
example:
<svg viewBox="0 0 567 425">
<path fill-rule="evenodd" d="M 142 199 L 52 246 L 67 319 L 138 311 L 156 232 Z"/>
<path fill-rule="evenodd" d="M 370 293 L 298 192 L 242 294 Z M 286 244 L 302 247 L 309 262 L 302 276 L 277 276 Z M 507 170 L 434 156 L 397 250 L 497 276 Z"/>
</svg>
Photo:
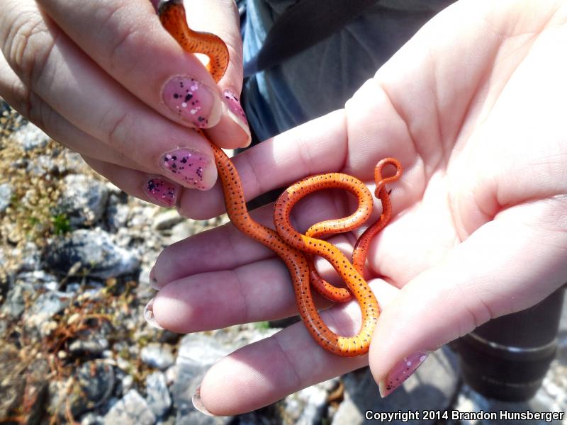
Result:
<svg viewBox="0 0 567 425">
<path fill-rule="evenodd" d="M 0 19 L 0 37 L 6 40 L 2 47 L 11 68 L 33 93 L 69 123 L 145 169 L 186 187 L 213 185 L 216 167 L 207 140 L 137 101 L 65 35 L 57 34 L 57 28 L 47 26 L 33 5 L 24 1 L 12 6 Z M 27 8 L 25 21 L 18 14 L 22 7 Z M 177 172 L 172 157 L 191 157 L 193 168 Z"/>
</svg>

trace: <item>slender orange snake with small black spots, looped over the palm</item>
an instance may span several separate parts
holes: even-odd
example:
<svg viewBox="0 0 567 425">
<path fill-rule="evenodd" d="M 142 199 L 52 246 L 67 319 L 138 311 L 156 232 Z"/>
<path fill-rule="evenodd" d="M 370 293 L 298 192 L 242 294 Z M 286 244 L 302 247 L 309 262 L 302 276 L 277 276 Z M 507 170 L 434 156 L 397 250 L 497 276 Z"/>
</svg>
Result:
<svg viewBox="0 0 567 425">
<path fill-rule="evenodd" d="M 159 18 L 164 28 L 179 42 L 186 52 L 201 53 L 210 58 L 208 71 L 215 81 L 219 81 L 228 67 L 228 48 L 223 40 L 210 33 L 197 33 L 187 26 L 182 0 L 162 1 L 159 5 Z M 200 130 L 198 130 L 200 132 Z M 203 135 L 203 133 L 201 132 Z M 204 136 L 204 135 L 203 135 Z M 399 179 L 402 167 L 393 158 L 382 159 L 376 165 L 376 197 L 381 200 L 381 217 L 359 237 L 354 246 L 352 263 L 335 247 L 321 239 L 327 234 L 349 232 L 359 227 L 370 215 L 373 200 L 364 183 L 347 174 L 330 173 L 310 176 L 289 187 L 276 201 L 274 224 L 276 231 L 255 222 L 246 208 L 242 183 L 237 170 L 222 149 L 212 142 L 218 176 L 223 185 L 228 217 L 237 229 L 272 249 L 286 263 L 293 281 L 293 289 L 299 314 L 315 341 L 326 350 L 338 356 L 360 356 L 367 353 L 372 332 L 376 327 L 380 309 L 374 293 L 363 275 L 364 263 L 369 242 L 388 223 L 391 217 L 391 203 L 385 184 Z M 384 166 L 395 166 L 395 174 L 383 178 Z M 327 220 L 311 226 L 305 234 L 293 228 L 290 213 L 293 205 L 309 193 L 325 188 L 340 188 L 350 191 L 359 200 L 357 210 L 349 217 Z M 306 253 L 306 254 L 303 254 Z M 336 288 L 322 280 L 313 265 L 313 255 L 322 256 L 329 261 L 339 276 L 347 284 L 346 288 Z M 362 325 L 354 336 L 340 336 L 331 331 L 322 321 L 313 302 L 310 283 L 327 299 L 346 301 L 352 295 L 359 302 L 362 312 Z"/>
</svg>

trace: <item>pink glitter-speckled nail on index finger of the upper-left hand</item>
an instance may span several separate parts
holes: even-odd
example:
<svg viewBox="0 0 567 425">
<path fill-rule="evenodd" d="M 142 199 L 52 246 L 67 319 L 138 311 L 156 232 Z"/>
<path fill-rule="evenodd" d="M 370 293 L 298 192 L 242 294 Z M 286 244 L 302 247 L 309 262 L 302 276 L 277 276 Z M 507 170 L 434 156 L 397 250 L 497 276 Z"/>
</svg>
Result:
<svg viewBox="0 0 567 425">
<path fill-rule="evenodd" d="M 209 128 L 220 120 L 222 106 L 208 86 L 191 77 L 173 77 L 162 91 L 164 103 L 187 123 Z"/>
</svg>

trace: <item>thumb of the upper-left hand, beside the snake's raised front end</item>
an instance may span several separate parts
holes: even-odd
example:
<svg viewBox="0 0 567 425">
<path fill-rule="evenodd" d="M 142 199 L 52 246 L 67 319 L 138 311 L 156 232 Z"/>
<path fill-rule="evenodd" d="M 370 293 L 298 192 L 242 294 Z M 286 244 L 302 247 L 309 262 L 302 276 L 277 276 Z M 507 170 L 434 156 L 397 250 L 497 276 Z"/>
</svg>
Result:
<svg viewBox="0 0 567 425">
<path fill-rule="evenodd" d="M 184 0 L 187 23 L 195 31 L 218 35 L 228 47 L 230 61 L 218 86 L 225 101 L 225 118 L 207 135 L 222 147 L 245 147 L 250 143 L 250 130 L 242 106 L 242 38 L 240 16 L 234 0 Z"/>
</svg>

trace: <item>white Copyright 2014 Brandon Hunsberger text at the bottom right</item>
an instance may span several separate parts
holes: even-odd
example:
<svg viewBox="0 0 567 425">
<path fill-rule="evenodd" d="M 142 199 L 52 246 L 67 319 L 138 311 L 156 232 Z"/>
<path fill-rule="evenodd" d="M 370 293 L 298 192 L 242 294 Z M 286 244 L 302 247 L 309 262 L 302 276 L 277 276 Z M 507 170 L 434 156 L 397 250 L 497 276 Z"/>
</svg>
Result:
<svg viewBox="0 0 567 425">
<path fill-rule="evenodd" d="M 454 421 L 562 421 L 565 417 L 564 412 L 509 412 L 500 410 L 498 412 L 460 412 L 459 410 L 408 410 L 403 412 L 373 412 L 366 410 L 364 417 L 368 420 L 374 419 L 381 422 L 408 422 L 432 419 L 452 419 Z"/>
</svg>

